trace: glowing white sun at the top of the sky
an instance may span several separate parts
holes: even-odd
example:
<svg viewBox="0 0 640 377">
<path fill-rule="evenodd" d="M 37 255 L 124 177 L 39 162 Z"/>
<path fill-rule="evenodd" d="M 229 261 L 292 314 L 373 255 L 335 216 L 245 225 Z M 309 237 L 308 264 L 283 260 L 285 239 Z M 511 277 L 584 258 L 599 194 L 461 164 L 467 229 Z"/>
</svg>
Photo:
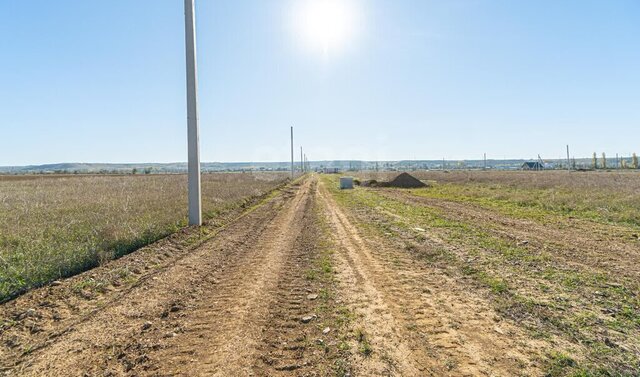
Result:
<svg viewBox="0 0 640 377">
<path fill-rule="evenodd" d="M 295 30 L 307 48 L 329 54 L 346 47 L 358 28 L 352 0 L 302 0 L 296 2 Z"/>
</svg>

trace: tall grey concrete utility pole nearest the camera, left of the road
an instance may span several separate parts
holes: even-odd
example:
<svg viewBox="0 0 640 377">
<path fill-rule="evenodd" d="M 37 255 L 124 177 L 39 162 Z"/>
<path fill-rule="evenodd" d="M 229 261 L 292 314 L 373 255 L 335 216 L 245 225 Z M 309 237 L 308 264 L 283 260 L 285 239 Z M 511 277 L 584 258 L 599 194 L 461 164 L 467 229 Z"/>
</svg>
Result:
<svg viewBox="0 0 640 377">
<path fill-rule="evenodd" d="M 184 0 L 187 52 L 187 140 L 189 144 L 189 225 L 202 225 L 200 196 L 200 130 L 198 125 L 198 69 L 196 60 L 195 0 Z"/>
</svg>

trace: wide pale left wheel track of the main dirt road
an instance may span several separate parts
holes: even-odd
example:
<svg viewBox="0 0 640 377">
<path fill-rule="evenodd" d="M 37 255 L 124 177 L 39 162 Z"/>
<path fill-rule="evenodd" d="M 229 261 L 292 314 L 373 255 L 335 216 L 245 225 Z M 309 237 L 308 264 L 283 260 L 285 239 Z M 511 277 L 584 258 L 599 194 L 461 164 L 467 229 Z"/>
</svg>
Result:
<svg viewBox="0 0 640 377">
<path fill-rule="evenodd" d="M 310 186 L 285 193 L 115 303 L 26 354 L 6 375 L 234 375 L 250 370 L 262 318 Z M 217 348 L 216 345 L 219 347 Z M 253 347 L 253 348 L 252 348 Z M 234 362 L 235 361 L 235 362 Z"/>
</svg>

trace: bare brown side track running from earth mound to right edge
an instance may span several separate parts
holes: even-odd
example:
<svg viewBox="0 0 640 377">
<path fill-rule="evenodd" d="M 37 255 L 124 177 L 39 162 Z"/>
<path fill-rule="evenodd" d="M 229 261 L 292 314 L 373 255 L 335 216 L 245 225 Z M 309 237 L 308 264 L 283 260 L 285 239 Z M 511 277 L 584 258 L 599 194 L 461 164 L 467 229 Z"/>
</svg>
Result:
<svg viewBox="0 0 640 377">
<path fill-rule="evenodd" d="M 521 247 L 531 250 L 549 249 L 551 256 L 561 259 L 568 266 L 596 268 L 608 271 L 612 277 L 624 276 L 632 281 L 640 280 L 640 270 L 629 268 L 640 264 L 640 244 L 631 240 L 621 242 L 611 237 L 611 230 L 616 228 L 613 225 L 567 219 L 562 226 L 573 229 L 569 231 L 554 227 L 556 224 L 518 219 L 471 203 L 425 198 L 396 190 L 378 192 L 405 204 L 436 208 L 450 219 L 480 224 L 482 229 L 490 230 L 502 238 L 525 241 Z"/>
</svg>

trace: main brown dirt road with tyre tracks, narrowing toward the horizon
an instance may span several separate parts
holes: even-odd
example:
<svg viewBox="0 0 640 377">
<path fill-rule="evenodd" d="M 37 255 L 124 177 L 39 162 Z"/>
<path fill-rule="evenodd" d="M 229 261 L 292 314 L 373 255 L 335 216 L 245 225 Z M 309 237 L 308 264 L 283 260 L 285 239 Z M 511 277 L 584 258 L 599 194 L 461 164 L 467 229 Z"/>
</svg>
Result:
<svg viewBox="0 0 640 377">
<path fill-rule="evenodd" d="M 541 374 L 543 343 L 357 222 L 311 176 L 191 249 L 32 291 L 0 307 L 0 373 Z"/>
</svg>

